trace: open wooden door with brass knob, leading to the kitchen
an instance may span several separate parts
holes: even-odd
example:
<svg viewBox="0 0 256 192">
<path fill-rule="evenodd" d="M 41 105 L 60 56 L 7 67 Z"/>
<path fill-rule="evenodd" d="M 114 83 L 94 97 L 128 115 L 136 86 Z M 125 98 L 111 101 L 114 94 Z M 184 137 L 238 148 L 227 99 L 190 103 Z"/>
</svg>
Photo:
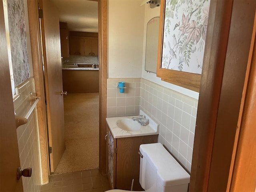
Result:
<svg viewBox="0 0 256 192">
<path fill-rule="evenodd" d="M 54 172 L 65 150 L 64 106 L 62 91 L 62 65 L 60 28 L 56 6 L 50 0 L 40 0 L 43 10 L 41 20 L 42 48 L 44 56 L 46 103 L 48 117 L 50 171 Z"/>
</svg>

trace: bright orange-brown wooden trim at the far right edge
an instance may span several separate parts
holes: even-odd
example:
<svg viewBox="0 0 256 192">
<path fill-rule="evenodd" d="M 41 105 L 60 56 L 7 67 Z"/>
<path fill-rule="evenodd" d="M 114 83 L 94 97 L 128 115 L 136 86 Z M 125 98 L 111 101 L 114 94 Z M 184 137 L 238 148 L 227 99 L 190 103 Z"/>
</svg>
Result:
<svg viewBox="0 0 256 192">
<path fill-rule="evenodd" d="M 254 191 L 256 189 L 256 14 L 250 48 L 246 81 L 244 83 L 244 110 L 241 111 L 241 125 L 238 148 L 234 150 L 234 170 L 230 174 L 230 191 Z M 248 81 L 247 81 L 248 80 Z"/>
</svg>

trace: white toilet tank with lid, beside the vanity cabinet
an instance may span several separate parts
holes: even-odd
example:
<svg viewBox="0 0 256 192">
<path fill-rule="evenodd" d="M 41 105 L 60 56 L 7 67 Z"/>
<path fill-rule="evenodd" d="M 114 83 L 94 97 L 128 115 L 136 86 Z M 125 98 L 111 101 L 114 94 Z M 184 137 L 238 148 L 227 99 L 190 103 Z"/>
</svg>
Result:
<svg viewBox="0 0 256 192">
<path fill-rule="evenodd" d="M 187 192 L 190 175 L 160 143 L 142 144 L 140 185 L 146 192 Z"/>
</svg>

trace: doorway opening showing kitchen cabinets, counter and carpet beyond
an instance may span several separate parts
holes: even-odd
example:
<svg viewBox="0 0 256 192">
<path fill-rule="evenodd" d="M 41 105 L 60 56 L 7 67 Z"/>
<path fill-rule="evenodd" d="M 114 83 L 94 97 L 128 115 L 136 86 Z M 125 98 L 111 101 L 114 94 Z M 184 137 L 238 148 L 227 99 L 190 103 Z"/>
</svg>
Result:
<svg viewBox="0 0 256 192">
<path fill-rule="evenodd" d="M 66 150 L 54 174 L 96 169 L 99 167 L 98 2 L 52 2 L 59 10 L 62 82 L 64 92 L 68 92 L 64 95 Z M 62 27 L 65 24 L 66 28 Z"/>
</svg>

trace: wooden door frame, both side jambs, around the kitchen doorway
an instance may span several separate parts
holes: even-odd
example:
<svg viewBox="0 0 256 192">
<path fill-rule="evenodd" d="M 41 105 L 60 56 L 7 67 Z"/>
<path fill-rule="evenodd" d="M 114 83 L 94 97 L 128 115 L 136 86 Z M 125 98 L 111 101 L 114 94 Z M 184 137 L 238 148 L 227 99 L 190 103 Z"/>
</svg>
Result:
<svg viewBox="0 0 256 192">
<path fill-rule="evenodd" d="M 99 76 L 100 76 L 100 93 L 99 93 L 99 116 L 100 116 L 100 154 L 99 168 L 102 174 L 106 174 L 106 98 L 107 98 L 107 4 L 108 0 L 98 1 L 98 22 L 99 22 Z M 38 4 L 36 0 L 28 0 L 28 18 L 30 30 L 30 42 L 32 50 L 32 62 L 35 79 L 36 95 L 41 97 L 38 102 L 38 126 L 40 139 L 40 154 L 42 166 L 42 183 L 48 183 L 50 174 L 49 155 L 48 155 L 48 128 L 46 118 L 45 92 L 44 92 L 44 73 L 42 71 L 42 51 L 41 38 L 38 19 Z"/>
</svg>

